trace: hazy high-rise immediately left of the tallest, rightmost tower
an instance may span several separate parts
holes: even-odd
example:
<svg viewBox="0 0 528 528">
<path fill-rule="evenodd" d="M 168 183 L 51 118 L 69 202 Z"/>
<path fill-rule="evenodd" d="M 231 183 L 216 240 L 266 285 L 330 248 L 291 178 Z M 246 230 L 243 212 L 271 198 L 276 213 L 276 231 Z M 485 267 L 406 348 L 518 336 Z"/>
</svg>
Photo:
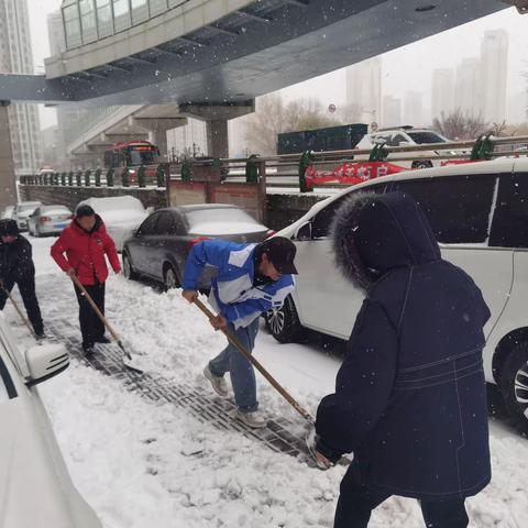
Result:
<svg viewBox="0 0 528 528">
<path fill-rule="evenodd" d="M 481 70 L 477 58 L 464 58 L 457 67 L 454 108 L 472 118 L 483 117 L 484 111 Z"/>
</svg>

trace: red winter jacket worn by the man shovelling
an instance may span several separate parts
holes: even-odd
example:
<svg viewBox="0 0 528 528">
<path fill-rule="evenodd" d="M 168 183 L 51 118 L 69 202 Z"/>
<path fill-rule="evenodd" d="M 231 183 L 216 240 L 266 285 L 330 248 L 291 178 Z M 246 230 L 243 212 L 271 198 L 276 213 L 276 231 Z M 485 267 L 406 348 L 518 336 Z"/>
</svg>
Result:
<svg viewBox="0 0 528 528">
<path fill-rule="evenodd" d="M 66 253 L 66 256 L 64 255 Z M 63 272 L 74 268 L 85 286 L 103 283 L 108 277 L 105 253 L 116 273 L 121 271 L 116 244 L 107 233 L 105 223 L 96 215 L 96 226 L 90 233 L 75 220 L 61 233 L 52 246 L 52 256 Z"/>
</svg>

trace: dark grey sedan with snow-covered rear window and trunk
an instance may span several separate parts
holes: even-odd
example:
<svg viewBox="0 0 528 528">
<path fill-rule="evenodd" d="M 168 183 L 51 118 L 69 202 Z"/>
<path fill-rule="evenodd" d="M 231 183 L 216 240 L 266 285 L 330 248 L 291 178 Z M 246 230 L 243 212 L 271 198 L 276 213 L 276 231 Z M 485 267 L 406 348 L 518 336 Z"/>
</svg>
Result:
<svg viewBox="0 0 528 528">
<path fill-rule="evenodd" d="M 153 212 L 125 241 L 123 273 L 153 278 L 166 288 L 179 286 L 185 261 L 194 243 L 205 239 L 261 242 L 273 234 L 248 212 L 224 204 L 200 204 L 160 209 Z M 200 288 L 210 285 L 208 268 Z"/>
</svg>

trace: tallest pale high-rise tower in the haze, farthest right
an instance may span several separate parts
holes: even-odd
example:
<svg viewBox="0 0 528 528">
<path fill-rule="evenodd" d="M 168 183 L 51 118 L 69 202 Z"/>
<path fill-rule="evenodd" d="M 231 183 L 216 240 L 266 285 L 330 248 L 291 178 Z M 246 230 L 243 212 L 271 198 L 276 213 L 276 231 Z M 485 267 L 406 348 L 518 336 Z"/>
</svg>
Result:
<svg viewBox="0 0 528 528">
<path fill-rule="evenodd" d="M 486 31 L 481 46 L 481 86 L 484 118 L 501 123 L 506 117 L 506 78 L 508 73 L 508 33 Z"/>
</svg>

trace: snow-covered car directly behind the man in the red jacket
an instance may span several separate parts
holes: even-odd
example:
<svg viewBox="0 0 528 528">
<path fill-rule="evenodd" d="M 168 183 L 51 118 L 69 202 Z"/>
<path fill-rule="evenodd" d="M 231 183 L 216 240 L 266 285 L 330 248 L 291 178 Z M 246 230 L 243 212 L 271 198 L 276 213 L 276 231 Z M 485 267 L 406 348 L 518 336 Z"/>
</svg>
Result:
<svg viewBox="0 0 528 528">
<path fill-rule="evenodd" d="M 132 231 L 148 216 L 143 204 L 133 196 L 88 198 L 77 207 L 80 205 L 90 206 L 102 218 L 119 252 L 123 250 L 123 243 Z"/>
</svg>

